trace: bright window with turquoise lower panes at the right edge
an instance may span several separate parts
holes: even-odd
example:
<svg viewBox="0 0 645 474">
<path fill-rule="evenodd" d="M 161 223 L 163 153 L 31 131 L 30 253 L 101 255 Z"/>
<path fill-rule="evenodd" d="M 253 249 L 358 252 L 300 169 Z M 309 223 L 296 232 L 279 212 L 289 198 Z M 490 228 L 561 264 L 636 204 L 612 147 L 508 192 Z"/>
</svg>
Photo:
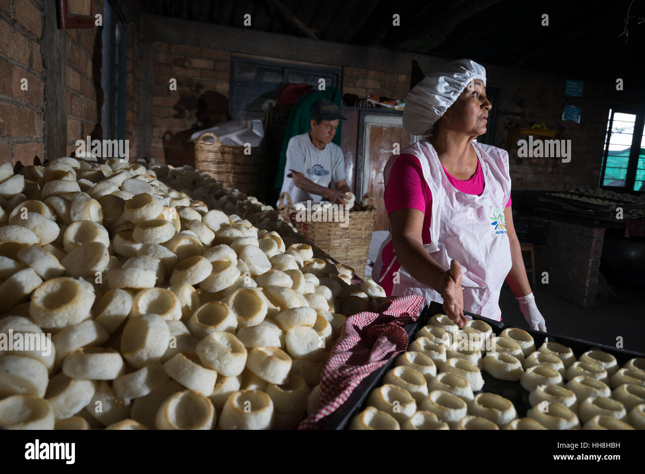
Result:
<svg viewBox="0 0 645 474">
<path fill-rule="evenodd" d="M 644 112 L 610 109 L 600 187 L 645 191 Z"/>
</svg>

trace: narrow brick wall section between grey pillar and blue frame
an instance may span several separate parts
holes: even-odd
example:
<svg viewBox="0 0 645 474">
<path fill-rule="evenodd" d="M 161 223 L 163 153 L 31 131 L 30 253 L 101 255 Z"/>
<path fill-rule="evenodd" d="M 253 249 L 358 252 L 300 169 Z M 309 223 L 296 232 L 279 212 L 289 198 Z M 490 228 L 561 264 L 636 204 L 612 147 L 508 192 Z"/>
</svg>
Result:
<svg viewBox="0 0 645 474">
<path fill-rule="evenodd" d="M 103 13 L 103 1 L 94 0 L 94 12 Z M 90 135 L 103 138 L 98 102 L 101 90 L 101 31 L 94 28 L 66 30 L 67 155 L 75 142 Z"/>
</svg>

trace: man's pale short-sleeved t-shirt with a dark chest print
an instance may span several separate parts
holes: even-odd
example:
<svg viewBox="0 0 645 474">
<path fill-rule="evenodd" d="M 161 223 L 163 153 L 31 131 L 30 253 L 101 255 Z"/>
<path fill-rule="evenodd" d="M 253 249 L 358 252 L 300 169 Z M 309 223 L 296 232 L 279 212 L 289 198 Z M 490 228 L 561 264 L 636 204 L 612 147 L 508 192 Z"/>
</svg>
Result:
<svg viewBox="0 0 645 474">
<path fill-rule="evenodd" d="M 290 170 L 304 173 L 304 177 L 314 183 L 328 188 L 330 183 L 338 183 L 345 177 L 345 160 L 341 147 L 328 143 L 319 150 L 309 138 L 309 133 L 295 135 L 289 140 L 286 148 L 286 164 L 284 165 L 284 181 L 280 193 L 288 192 L 293 203 L 307 201 L 322 201 L 323 196 L 310 194 L 295 186 L 293 178 L 288 178 Z"/>
</svg>

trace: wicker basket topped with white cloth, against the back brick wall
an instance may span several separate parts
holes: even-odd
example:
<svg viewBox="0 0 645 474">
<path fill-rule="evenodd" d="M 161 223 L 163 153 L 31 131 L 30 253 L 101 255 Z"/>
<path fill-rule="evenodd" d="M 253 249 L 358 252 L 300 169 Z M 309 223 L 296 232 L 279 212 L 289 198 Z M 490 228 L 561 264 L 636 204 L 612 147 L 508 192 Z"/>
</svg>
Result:
<svg viewBox="0 0 645 474">
<path fill-rule="evenodd" d="M 205 141 L 204 137 L 213 137 Z M 224 186 L 237 188 L 246 195 L 264 197 L 263 149 L 255 146 L 250 155 L 244 146 L 224 145 L 217 135 L 206 132 L 195 141 L 195 168 L 220 181 Z"/>
</svg>

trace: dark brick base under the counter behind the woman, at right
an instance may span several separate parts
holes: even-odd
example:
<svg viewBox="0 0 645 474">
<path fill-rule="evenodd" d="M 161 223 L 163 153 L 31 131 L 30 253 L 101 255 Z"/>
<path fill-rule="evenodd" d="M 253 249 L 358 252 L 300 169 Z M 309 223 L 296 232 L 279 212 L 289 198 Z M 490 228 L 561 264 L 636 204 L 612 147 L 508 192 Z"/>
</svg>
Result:
<svg viewBox="0 0 645 474">
<path fill-rule="evenodd" d="M 535 278 L 541 290 L 590 308 L 598 288 L 604 228 L 547 221 L 546 242 L 535 246 Z M 548 284 L 541 284 L 548 272 Z"/>
</svg>

